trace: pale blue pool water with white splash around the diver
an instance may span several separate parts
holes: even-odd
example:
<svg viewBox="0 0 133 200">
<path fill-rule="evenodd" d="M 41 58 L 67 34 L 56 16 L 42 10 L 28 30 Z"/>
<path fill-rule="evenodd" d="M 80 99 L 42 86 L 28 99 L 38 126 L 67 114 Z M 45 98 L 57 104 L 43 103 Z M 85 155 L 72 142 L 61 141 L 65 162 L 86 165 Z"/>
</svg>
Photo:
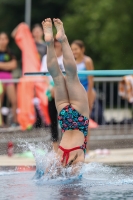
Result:
<svg viewBox="0 0 133 200">
<path fill-rule="evenodd" d="M 133 200 L 133 167 L 90 163 L 74 175 L 72 168 L 60 168 L 46 148 L 44 155 L 37 153 L 34 145 L 29 148 L 37 173 L 1 169 L 0 200 Z M 51 160 L 54 164 L 41 176 Z"/>
</svg>

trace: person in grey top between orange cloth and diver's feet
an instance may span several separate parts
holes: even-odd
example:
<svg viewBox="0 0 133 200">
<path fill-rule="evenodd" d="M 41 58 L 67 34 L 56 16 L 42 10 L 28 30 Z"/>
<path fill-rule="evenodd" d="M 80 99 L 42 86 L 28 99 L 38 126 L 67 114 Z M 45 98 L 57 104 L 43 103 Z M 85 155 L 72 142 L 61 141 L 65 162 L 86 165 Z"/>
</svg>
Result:
<svg viewBox="0 0 133 200">
<path fill-rule="evenodd" d="M 47 47 L 42 39 L 43 37 L 43 30 L 40 24 L 35 24 L 32 28 L 32 35 L 35 40 L 35 44 L 39 53 L 40 60 L 42 57 L 47 53 Z"/>
</svg>

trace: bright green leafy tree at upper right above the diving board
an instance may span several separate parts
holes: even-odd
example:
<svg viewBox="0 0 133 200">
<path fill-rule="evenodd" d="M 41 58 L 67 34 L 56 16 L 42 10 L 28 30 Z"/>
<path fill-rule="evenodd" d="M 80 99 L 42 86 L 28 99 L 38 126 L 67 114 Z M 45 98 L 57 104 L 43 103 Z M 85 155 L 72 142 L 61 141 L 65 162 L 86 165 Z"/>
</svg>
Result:
<svg viewBox="0 0 133 200">
<path fill-rule="evenodd" d="M 133 66 L 133 1 L 73 0 L 64 25 L 70 42 L 85 42 L 96 69 L 130 69 Z"/>
</svg>

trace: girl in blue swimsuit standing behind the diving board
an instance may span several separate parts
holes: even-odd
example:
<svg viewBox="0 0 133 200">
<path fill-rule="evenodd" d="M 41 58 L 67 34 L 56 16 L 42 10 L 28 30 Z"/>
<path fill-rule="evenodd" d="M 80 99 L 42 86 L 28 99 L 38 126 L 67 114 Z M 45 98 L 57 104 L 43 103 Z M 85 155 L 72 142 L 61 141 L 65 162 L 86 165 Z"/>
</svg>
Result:
<svg viewBox="0 0 133 200">
<path fill-rule="evenodd" d="M 78 70 L 94 70 L 92 59 L 84 54 L 85 46 L 83 41 L 81 40 L 73 41 L 71 44 L 71 49 L 75 57 Z M 93 77 L 87 75 L 86 76 L 79 75 L 79 80 L 81 84 L 84 86 L 85 90 L 87 91 L 90 114 L 91 114 L 93 104 L 96 98 L 96 92 L 93 89 L 94 86 Z"/>
</svg>

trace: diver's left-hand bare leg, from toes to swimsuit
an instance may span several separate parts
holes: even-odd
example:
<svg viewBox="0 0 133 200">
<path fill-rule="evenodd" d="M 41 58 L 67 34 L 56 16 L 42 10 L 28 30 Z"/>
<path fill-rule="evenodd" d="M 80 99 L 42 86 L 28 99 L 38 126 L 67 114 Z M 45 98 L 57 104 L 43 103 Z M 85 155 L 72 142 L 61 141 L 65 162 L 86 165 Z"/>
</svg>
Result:
<svg viewBox="0 0 133 200">
<path fill-rule="evenodd" d="M 58 113 L 69 104 L 68 93 L 66 89 L 66 83 L 64 76 L 58 65 L 57 57 L 54 50 L 54 39 L 52 31 L 52 21 L 50 18 L 45 19 L 42 22 L 44 30 L 44 38 L 47 43 L 47 67 L 48 71 L 51 74 L 54 80 L 54 93 L 55 93 L 55 102 Z"/>
</svg>

